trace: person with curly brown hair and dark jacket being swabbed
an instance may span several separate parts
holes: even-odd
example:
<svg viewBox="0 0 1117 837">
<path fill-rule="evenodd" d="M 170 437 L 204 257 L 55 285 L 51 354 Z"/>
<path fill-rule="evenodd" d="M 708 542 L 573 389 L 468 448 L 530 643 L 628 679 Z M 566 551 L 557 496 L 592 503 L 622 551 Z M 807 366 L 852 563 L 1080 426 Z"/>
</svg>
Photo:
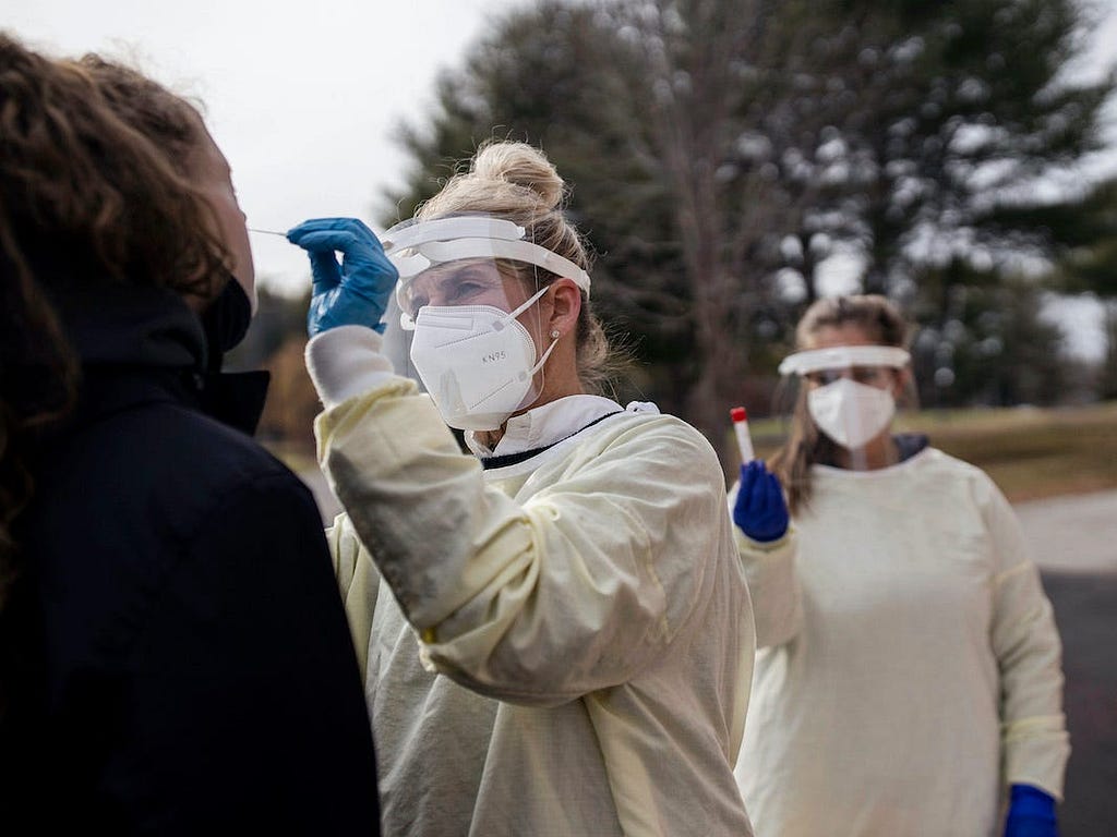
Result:
<svg viewBox="0 0 1117 837">
<path fill-rule="evenodd" d="M 375 835 L 314 498 L 221 372 L 256 271 L 197 106 L 0 32 L 0 830 Z"/>
</svg>

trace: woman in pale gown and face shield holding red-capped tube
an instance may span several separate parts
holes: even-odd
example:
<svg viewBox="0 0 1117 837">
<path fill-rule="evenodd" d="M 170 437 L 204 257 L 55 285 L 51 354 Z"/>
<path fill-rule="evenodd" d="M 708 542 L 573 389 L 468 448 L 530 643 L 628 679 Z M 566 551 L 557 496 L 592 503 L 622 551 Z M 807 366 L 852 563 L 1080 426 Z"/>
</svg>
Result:
<svg viewBox="0 0 1117 837">
<path fill-rule="evenodd" d="M 906 334 L 877 296 L 799 324 L 772 461 L 796 555 L 753 532 L 764 481 L 731 498 L 762 646 L 742 795 L 758 835 L 1054 835 L 1069 745 L 1051 606 L 993 482 L 892 432 Z"/>
</svg>

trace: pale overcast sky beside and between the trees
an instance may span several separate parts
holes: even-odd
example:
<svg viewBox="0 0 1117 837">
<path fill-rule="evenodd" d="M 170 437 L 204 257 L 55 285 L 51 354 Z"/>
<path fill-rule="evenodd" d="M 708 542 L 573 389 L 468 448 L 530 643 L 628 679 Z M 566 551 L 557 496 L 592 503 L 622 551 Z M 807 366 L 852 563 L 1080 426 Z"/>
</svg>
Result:
<svg viewBox="0 0 1117 837">
<path fill-rule="evenodd" d="M 200 98 L 251 227 L 355 215 L 375 228 L 379 198 L 405 163 L 395 126 L 423 124 L 438 73 L 531 1 L 0 0 L 0 28 L 54 54 L 126 58 Z M 1117 0 L 1096 6 L 1106 17 L 1086 62 L 1094 71 L 1117 59 Z M 302 251 L 259 234 L 252 248 L 262 282 L 305 287 Z M 1097 307 L 1065 308 L 1072 341 L 1089 352 Z"/>
</svg>

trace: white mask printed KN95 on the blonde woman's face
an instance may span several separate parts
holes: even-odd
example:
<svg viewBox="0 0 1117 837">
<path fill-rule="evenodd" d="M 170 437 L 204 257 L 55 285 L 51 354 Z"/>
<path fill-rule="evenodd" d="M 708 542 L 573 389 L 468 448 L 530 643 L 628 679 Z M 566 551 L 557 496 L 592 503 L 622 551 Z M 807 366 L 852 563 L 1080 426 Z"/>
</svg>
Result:
<svg viewBox="0 0 1117 837">
<path fill-rule="evenodd" d="M 423 306 L 414 320 L 411 363 L 451 427 L 496 430 L 537 393 L 535 343 L 516 317 L 546 292 L 540 289 L 510 314 L 489 305 Z"/>
</svg>

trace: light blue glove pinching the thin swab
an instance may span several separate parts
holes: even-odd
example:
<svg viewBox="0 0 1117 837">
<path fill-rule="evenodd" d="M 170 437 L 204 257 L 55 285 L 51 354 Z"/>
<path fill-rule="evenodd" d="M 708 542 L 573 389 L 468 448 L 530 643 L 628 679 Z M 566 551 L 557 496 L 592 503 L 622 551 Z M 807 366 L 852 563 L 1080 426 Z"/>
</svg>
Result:
<svg viewBox="0 0 1117 837">
<path fill-rule="evenodd" d="M 367 326 L 381 334 L 399 272 L 376 235 L 355 218 L 315 218 L 287 231 L 311 257 L 314 285 L 306 328 L 311 337 L 337 326 Z M 341 252 L 337 263 L 335 252 Z"/>
</svg>

